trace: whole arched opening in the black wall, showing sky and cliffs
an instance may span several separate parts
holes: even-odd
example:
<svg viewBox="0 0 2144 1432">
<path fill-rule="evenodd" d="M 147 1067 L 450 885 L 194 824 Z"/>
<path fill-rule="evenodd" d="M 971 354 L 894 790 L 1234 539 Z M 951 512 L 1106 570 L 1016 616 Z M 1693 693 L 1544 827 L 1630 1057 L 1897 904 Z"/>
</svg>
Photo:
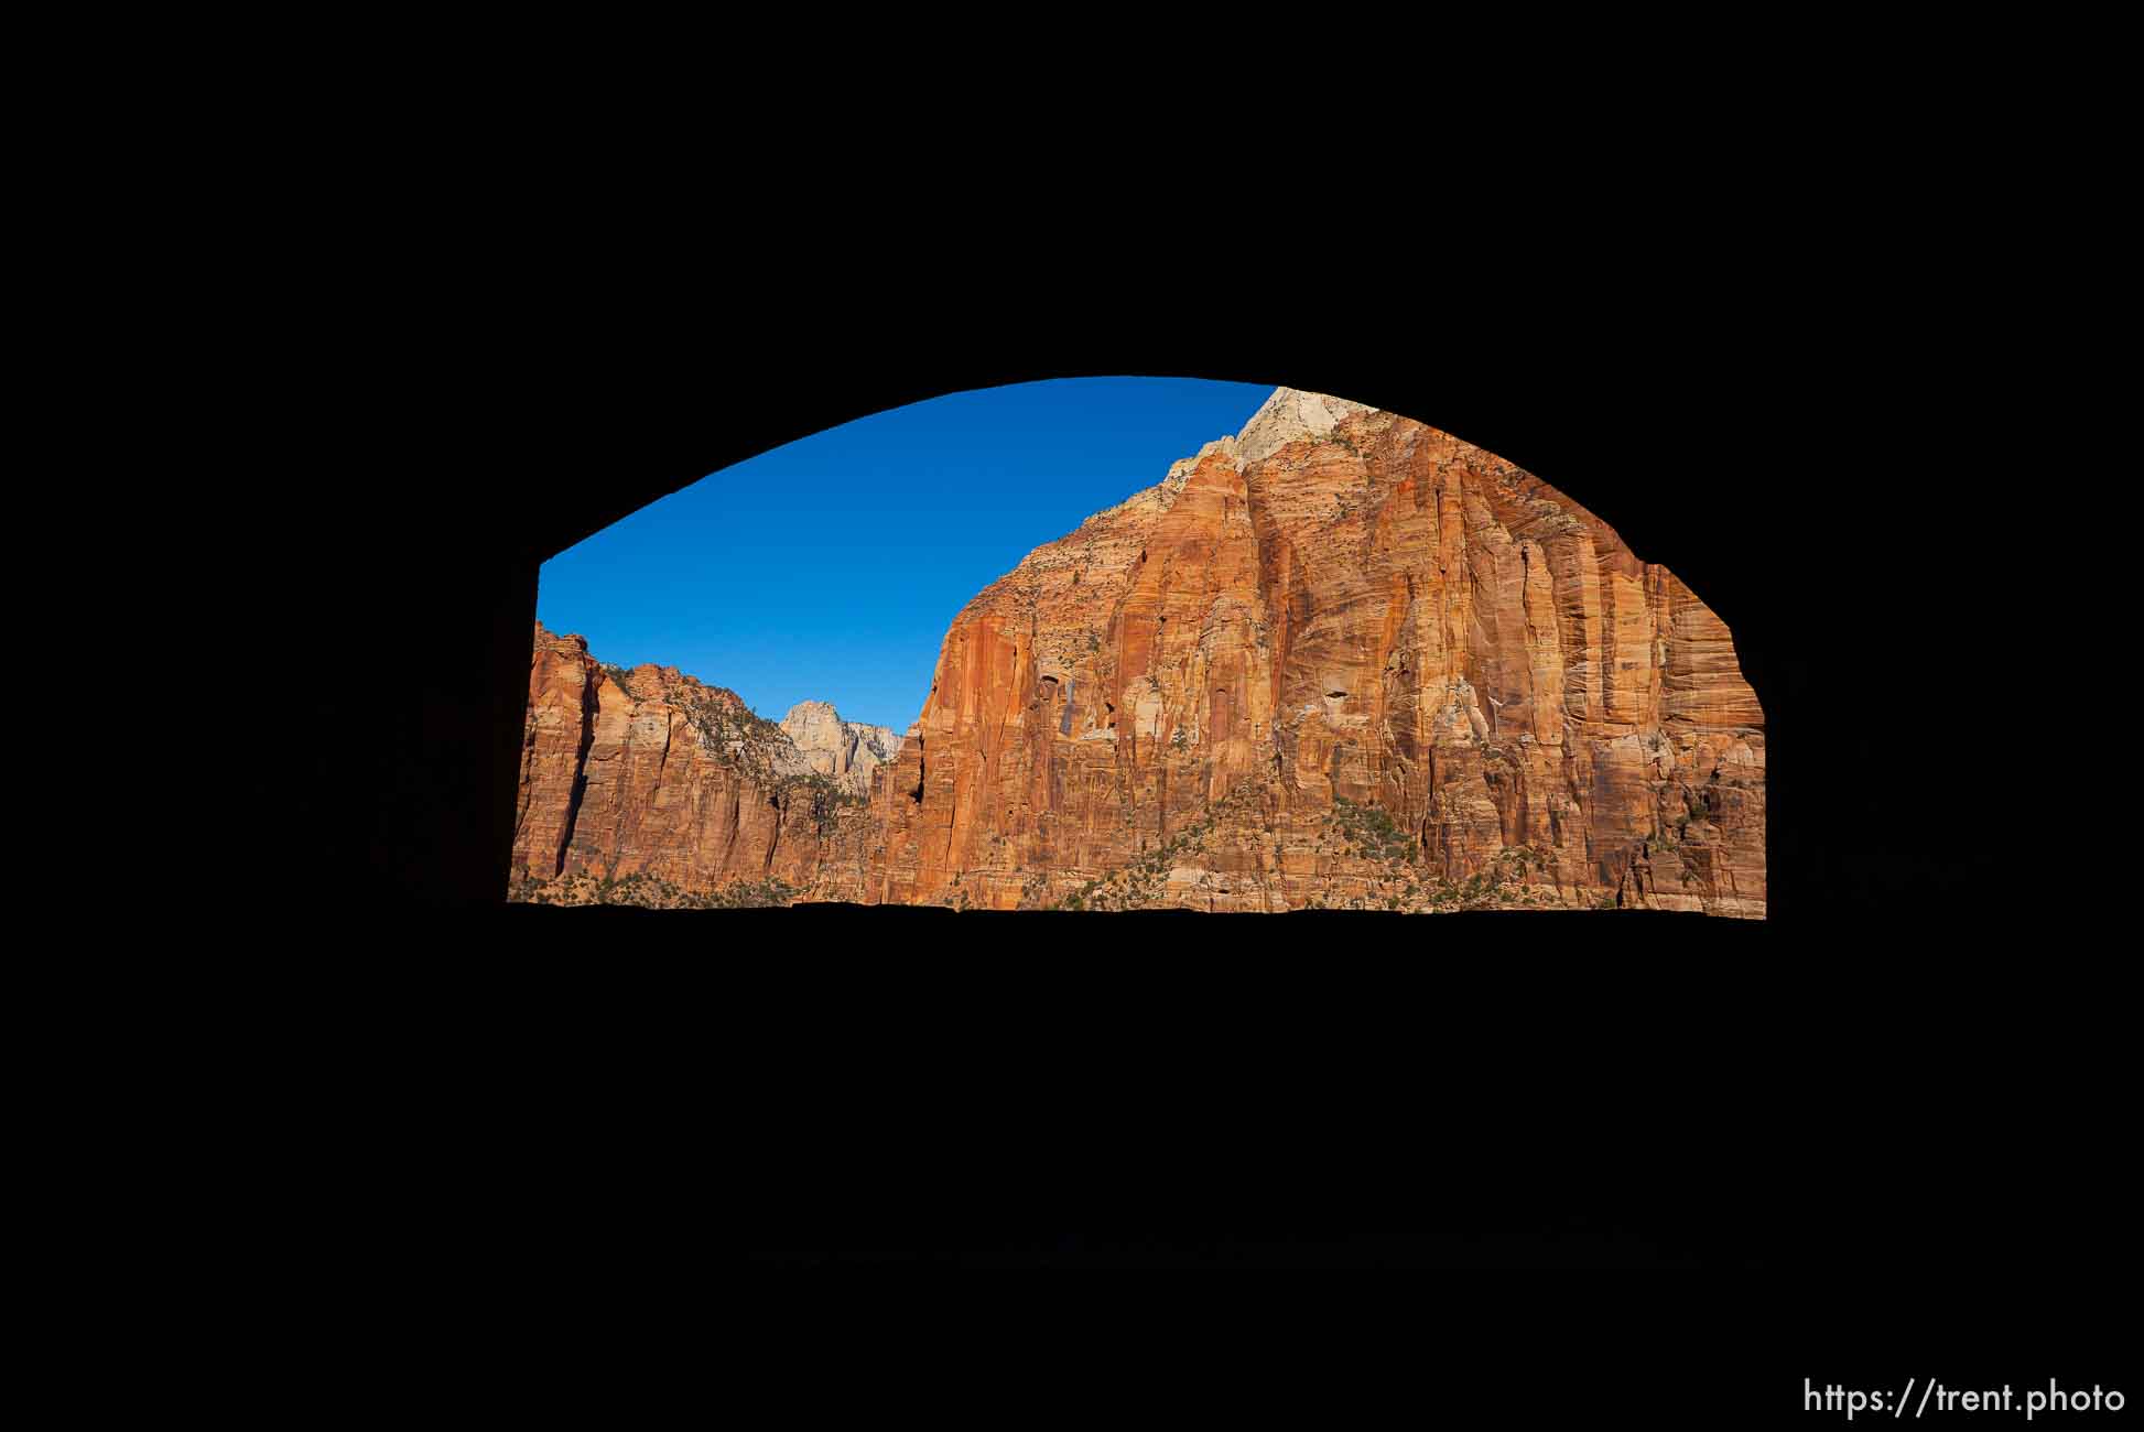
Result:
<svg viewBox="0 0 2144 1432">
<path fill-rule="evenodd" d="M 1078 489 L 1059 508 L 1014 502 L 1053 484 L 1021 467 L 1027 448 L 1175 409 L 1201 416 L 1166 444 L 1089 452 L 1081 461 L 1108 476 L 1085 489 L 1055 478 Z M 984 478 L 939 482 L 965 467 Z M 845 487 L 851 469 L 875 487 Z M 873 510 L 879 491 L 905 502 Z M 813 532 L 821 510 L 855 512 L 864 542 L 843 547 L 838 525 Z M 688 540 L 654 536 L 656 517 Z M 823 583 L 843 622 L 868 622 L 939 581 L 928 562 L 870 562 L 946 542 L 963 523 L 1029 551 L 1001 575 L 993 562 L 950 579 L 935 611 L 961 615 L 941 647 L 909 641 L 888 656 L 851 641 L 840 650 L 858 656 L 840 662 L 825 652 L 853 632 L 813 626 L 808 600 L 763 600 Z M 810 542 L 795 545 L 798 532 Z M 665 575 L 662 562 L 699 577 Z M 645 594 L 626 583 L 613 596 L 605 583 L 622 575 Z M 602 885 L 607 898 L 725 909 L 727 885 L 770 887 L 776 849 L 772 887 L 804 903 L 1767 909 L 1765 714 L 1732 632 L 1546 478 L 1364 403 L 1164 379 L 950 394 L 665 497 L 549 562 L 542 602 L 551 628 L 536 626 L 512 821 L 517 900 L 587 898 L 566 879 L 575 870 L 540 879 L 538 855 L 555 847 L 568 866 L 652 877 Z M 639 637 L 639 609 L 654 611 L 658 639 Z M 641 665 L 628 673 L 596 641 L 562 637 L 581 611 L 598 615 L 596 641 Z M 776 624 L 753 632 L 783 654 L 772 675 L 735 639 L 735 613 Z M 729 643 L 695 647 L 695 620 Z M 682 652 L 690 675 L 673 665 Z M 847 720 L 868 688 L 858 667 L 888 660 L 900 671 L 875 697 L 883 725 Z M 800 675 L 800 662 L 817 667 Z M 1100 705 L 1074 699 L 1083 690 Z M 753 710 L 761 692 L 780 692 L 765 716 Z M 1027 710 L 1027 692 L 1040 707 Z M 1121 742 L 1117 701 L 1134 707 Z M 948 774 L 937 787 L 926 729 Z M 1732 817 L 1694 823 L 1689 810 L 1717 800 L 1704 789 L 1722 761 L 1739 785 Z M 810 802 L 780 797 L 802 785 Z M 568 804 L 568 791 L 581 795 Z M 813 812 L 808 832 L 791 830 L 798 810 Z M 1404 840 L 1394 817 L 1415 812 L 1434 830 Z M 1336 819 L 1340 838 L 1327 838 Z M 1179 836 L 1166 868 L 1130 842 L 1149 825 Z"/>
</svg>

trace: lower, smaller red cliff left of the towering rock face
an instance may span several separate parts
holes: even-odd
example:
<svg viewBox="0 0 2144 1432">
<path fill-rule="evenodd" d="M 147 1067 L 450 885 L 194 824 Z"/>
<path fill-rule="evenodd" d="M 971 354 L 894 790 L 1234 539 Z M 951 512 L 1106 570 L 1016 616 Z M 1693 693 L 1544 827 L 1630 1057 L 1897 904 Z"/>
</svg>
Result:
<svg viewBox="0 0 2144 1432">
<path fill-rule="evenodd" d="M 600 667 L 536 626 L 512 864 L 708 892 L 808 887 L 860 808 L 830 804 L 810 759 L 744 701 L 675 667 Z"/>
</svg>

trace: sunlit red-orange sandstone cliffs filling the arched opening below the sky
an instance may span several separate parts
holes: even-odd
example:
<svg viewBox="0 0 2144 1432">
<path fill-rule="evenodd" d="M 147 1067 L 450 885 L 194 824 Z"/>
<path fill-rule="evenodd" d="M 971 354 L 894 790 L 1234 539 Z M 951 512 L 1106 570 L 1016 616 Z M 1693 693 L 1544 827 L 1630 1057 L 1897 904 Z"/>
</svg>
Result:
<svg viewBox="0 0 2144 1432">
<path fill-rule="evenodd" d="M 1323 394 L 1278 390 L 971 600 L 890 761 L 806 703 L 759 722 L 765 774 L 690 742 L 673 772 L 678 701 L 742 701 L 641 667 L 641 710 L 547 637 L 517 857 L 988 909 L 1765 913 L 1765 716 L 1719 620 L 1539 478 Z M 821 802 L 806 840 L 795 776 L 860 770 L 868 810 Z"/>
</svg>

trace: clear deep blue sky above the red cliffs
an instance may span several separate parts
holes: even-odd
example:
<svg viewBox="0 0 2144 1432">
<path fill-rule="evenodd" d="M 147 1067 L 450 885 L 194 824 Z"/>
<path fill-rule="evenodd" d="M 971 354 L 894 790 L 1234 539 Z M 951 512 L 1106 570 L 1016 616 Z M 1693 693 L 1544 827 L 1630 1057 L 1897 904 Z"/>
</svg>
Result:
<svg viewBox="0 0 2144 1432">
<path fill-rule="evenodd" d="M 954 392 L 725 467 L 542 564 L 536 615 L 596 660 L 678 667 L 772 720 L 907 731 L 971 596 L 1271 388 L 1074 377 Z"/>
</svg>

